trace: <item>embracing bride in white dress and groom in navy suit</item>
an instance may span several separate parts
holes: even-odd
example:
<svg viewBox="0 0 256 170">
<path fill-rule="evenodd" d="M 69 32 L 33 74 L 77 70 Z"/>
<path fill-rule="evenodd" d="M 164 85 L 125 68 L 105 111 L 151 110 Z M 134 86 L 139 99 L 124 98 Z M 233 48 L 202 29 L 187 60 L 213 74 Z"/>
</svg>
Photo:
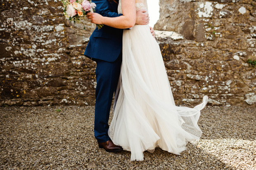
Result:
<svg viewBox="0 0 256 170">
<path fill-rule="evenodd" d="M 84 55 L 96 61 L 95 138 L 100 148 L 131 152 L 131 161 L 143 161 L 143 152 L 156 147 L 180 155 L 187 142 L 199 140 L 200 110 L 175 105 L 154 30 L 148 25 L 147 0 L 94 0 L 88 13 L 94 30 Z M 114 117 L 109 112 L 114 98 Z"/>
</svg>

